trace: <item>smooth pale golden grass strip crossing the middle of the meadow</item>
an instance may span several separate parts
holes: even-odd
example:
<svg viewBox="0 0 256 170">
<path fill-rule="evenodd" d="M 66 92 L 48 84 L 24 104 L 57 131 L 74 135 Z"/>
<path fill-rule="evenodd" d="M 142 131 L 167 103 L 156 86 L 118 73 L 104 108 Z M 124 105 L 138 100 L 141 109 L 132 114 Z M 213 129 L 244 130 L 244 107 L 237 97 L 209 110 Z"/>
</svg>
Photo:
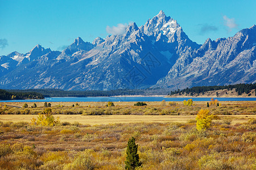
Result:
<svg viewBox="0 0 256 170">
<path fill-rule="evenodd" d="M 0 114 L 2 122 L 31 122 L 31 118 L 36 115 L 27 114 Z M 81 114 L 57 114 L 55 117 L 60 118 L 60 122 L 79 122 L 82 125 L 108 125 L 108 124 L 126 124 L 126 123 L 152 123 L 152 122 L 188 122 L 195 120 L 196 116 L 170 116 L 170 115 L 101 115 L 101 116 L 83 116 Z M 256 118 L 256 114 L 242 115 L 220 115 L 221 119 L 232 120 L 232 124 L 247 122 L 250 118 Z M 218 121 L 218 120 L 214 120 Z"/>
</svg>

